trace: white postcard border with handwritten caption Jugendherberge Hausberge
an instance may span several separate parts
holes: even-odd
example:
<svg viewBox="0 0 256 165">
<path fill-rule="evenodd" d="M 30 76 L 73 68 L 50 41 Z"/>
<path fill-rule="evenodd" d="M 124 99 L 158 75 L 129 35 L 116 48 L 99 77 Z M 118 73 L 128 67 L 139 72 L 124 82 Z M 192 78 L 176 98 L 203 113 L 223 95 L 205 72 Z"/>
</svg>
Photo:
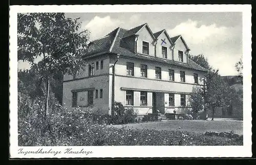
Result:
<svg viewBox="0 0 256 165">
<path fill-rule="evenodd" d="M 17 124 L 17 13 L 28 12 L 243 12 L 243 146 L 85 146 L 19 147 Z M 250 157 L 251 153 L 251 5 L 45 5 L 10 6 L 10 157 Z M 90 151 L 65 154 L 65 150 Z M 23 151 L 60 151 L 50 154 L 18 154 Z"/>
</svg>

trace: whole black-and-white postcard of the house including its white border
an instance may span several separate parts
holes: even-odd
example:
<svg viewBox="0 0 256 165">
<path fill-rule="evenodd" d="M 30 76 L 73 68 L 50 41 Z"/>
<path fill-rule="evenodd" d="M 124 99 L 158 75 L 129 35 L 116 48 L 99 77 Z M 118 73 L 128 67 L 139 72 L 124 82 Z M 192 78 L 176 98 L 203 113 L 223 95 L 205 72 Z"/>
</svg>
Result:
<svg viewBox="0 0 256 165">
<path fill-rule="evenodd" d="M 11 157 L 251 155 L 250 6 L 143 6 L 10 9 Z"/>
</svg>

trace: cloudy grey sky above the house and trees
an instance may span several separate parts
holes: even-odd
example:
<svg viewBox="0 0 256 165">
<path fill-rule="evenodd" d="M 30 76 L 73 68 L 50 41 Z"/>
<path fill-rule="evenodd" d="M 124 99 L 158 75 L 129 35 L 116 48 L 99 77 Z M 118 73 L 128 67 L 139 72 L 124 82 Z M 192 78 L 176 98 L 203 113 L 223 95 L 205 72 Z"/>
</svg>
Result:
<svg viewBox="0 0 256 165">
<path fill-rule="evenodd" d="M 221 76 L 238 75 L 234 65 L 242 57 L 242 13 L 66 13 L 80 17 L 81 28 L 90 31 L 90 40 L 121 27 L 132 29 L 147 23 L 152 32 L 165 29 L 170 37 L 182 35 L 191 55 L 203 54 Z M 24 62 L 18 68 L 27 68 Z"/>
</svg>

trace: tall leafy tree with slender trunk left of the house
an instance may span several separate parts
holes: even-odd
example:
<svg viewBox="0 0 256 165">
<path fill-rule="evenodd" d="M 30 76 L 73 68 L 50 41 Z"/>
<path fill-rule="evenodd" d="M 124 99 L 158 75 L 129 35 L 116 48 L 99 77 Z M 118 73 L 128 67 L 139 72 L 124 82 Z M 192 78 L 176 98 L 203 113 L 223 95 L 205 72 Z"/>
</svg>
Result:
<svg viewBox="0 0 256 165">
<path fill-rule="evenodd" d="M 46 117 L 51 78 L 59 72 L 74 74 L 86 64 L 82 55 L 88 48 L 89 33 L 78 32 L 78 20 L 66 18 L 64 13 L 18 13 L 18 60 L 27 61 L 30 70 L 41 75 Z"/>
</svg>

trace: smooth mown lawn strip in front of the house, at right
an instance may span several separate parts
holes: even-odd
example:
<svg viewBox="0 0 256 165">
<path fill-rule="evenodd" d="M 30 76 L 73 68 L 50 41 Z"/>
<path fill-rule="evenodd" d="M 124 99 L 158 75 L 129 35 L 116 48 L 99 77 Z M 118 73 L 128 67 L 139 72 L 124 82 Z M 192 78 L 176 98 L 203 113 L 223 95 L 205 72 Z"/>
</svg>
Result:
<svg viewBox="0 0 256 165">
<path fill-rule="evenodd" d="M 121 128 L 126 126 L 131 129 L 154 129 L 166 131 L 187 131 L 195 133 L 205 133 L 206 131 L 216 132 L 230 132 L 242 135 L 243 121 L 237 120 L 216 120 L 216 121 L 202 121 L 202 120 L 174 120 L 168 122 L 150 122 L 127 125 L 114 125 L 113 127 Z"/>
</svg>

